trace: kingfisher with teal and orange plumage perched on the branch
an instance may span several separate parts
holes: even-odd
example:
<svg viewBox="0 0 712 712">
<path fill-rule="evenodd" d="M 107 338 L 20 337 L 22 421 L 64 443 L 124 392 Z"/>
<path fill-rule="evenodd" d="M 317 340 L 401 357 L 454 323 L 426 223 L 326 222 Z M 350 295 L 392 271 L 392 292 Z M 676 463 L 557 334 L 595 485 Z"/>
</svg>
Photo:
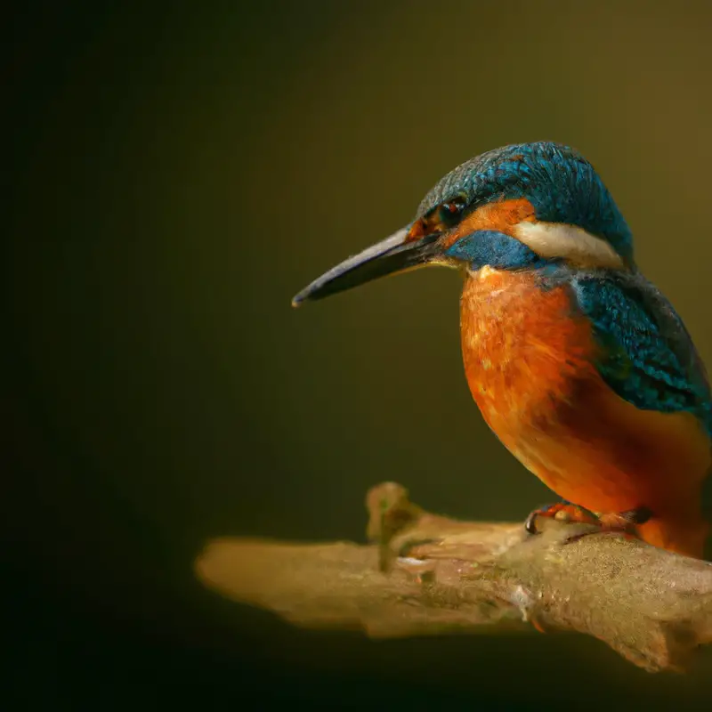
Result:
<svg viewBox="0 0 712 712">
<path fill-rule="evenodd" d="M 464 278 L 467 384 L 487 425 L 562 498 L 539 517 L 595 523 L 703 558 L 712 395 L 692 338 L 635 264 L 633 236 L 577 150 L 532 142 L 457 166 L 415 218 L 293 305 L 426 265 Z"/>
</svg>

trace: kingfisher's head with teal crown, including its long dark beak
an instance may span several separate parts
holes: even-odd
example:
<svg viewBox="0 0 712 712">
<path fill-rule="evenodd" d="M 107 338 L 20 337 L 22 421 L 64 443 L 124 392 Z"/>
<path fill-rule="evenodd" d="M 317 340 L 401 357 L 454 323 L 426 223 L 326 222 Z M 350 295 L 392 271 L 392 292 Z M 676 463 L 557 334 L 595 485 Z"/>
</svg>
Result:
<svg viewBox="0 0 712 712">
<path fill-rule="evenodd" d="M 415 220 L 315 279 L 293 304 L 428 264 L 477 271 L 633 267 L 623 215 L 595 169 L 552 142 L 491 150 L 447 174 Z"/>
</svg>

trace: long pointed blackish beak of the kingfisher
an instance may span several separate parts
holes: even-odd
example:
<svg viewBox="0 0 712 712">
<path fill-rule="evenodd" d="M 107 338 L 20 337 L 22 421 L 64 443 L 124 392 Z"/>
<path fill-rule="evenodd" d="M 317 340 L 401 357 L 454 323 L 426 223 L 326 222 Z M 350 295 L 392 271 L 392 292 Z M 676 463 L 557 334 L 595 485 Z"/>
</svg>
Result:
<svg viewBox="0 0 712 712">
<path fill-rule="evenodd" d="M 292 300 L 292 306 L 323 299 L 388 274 L 412 270 L 428 263 L 437 254 L 439 232 L 411 242 L 405 241 L 407 237 L 408 228 L 403 228 L 394 232 L 390 238 L 368 247 L 359 255 L 337 264 L 326 274 L 314 279 L 308 287 L 304 287 Z"/>
</svg>

